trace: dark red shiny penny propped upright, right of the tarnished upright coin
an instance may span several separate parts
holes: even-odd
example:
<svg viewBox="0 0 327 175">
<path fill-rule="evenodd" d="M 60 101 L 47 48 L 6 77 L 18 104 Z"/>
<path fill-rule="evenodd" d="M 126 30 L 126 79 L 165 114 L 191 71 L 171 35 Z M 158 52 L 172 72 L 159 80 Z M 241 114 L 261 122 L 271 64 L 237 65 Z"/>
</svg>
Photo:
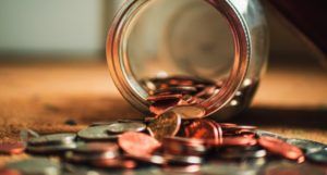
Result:
<svg viewBox="0 0 327 175">
<path fill-rule="evenodd" d="M 216 145 L 221 142 L 219 129 L 215 122 L 210 120 L 195 120 L 185 127 L 184 133 L 190 138 L 211 140 Z"/>
</svg>

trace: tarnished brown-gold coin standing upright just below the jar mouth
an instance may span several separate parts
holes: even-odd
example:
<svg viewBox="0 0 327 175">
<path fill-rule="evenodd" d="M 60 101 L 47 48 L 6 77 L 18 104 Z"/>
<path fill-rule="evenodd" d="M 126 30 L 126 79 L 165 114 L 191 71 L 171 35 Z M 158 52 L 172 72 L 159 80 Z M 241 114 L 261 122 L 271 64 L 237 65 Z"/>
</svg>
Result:
<svg viewBox="0 0 327 175">
<path fill-rule="evenodd" d="M 168 111 L 158 115 L 154 121 L 152 121 L 147 128 L 153 137 L 161 141 L 165 137 L 175 136 L 180 130 L 180 114 Z"/>
</svg>

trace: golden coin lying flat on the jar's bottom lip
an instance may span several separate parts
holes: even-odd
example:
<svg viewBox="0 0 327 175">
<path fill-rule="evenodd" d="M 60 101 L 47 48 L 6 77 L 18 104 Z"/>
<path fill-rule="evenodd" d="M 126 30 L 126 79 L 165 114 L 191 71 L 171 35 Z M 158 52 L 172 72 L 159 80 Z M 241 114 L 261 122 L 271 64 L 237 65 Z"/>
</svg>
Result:
<svg viewBox="0 0 327 175">
<path fill-rule="evenodd" d="M 172 108 L 171 111 L 181 114 L 182 120 L 195 120 L 206 116 L 206 110 L 199 105 L 178 105 Z"/>
</svg>

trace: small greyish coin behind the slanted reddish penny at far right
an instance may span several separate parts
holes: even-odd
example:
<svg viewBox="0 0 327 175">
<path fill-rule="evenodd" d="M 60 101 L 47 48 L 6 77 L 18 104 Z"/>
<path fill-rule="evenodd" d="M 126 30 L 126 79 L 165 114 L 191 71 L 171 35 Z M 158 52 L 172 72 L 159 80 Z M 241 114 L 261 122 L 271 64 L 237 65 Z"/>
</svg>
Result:
<svg viewBox="0 0 327 175">
<path fill-rule="evenodd" d="M 290 145 L 301 148 L 305 152 L 316 152 L 327 147 L 320 142 L 299 138 L 289 138 L 286 141 Z"/>
</svg>

